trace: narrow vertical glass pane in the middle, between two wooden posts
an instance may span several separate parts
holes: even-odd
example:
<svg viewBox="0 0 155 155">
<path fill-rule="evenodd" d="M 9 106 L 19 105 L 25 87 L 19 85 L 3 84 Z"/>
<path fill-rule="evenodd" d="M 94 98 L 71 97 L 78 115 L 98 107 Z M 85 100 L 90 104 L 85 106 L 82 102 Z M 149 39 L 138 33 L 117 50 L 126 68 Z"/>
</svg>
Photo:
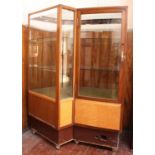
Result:
<svg viewBox="0 0 155 155">
<path fill-rule="evenodd" d="M 62 9 L 61 99 L 72 97 L 74 12 Z"/>
</svg>

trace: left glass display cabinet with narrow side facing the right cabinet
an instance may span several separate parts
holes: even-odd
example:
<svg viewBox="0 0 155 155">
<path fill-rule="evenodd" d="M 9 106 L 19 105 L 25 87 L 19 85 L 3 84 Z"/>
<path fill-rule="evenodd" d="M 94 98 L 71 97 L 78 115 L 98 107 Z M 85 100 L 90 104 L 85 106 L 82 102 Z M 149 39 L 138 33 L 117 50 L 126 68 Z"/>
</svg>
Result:
<svg viewBox="0 0 155 155">
<path fill-rule="evenodd" d="M 29 122 L 60 145 L 73 139 L 75 9 L 57 5 L 29 14 Z"/>
</svg>

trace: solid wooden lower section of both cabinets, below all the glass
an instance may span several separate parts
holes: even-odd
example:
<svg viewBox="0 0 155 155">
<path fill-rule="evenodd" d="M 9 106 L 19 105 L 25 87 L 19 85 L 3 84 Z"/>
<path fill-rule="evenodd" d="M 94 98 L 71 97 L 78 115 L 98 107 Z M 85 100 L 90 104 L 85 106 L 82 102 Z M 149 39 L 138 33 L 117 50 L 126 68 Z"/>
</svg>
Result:
<svg viewBox="0 0 155 155">
<path fill-rule="evenodd" d="M 56 129 L 56 104 L 30 93 L 30 128 L 54 143 L 56 147 L 73 139 L 107 147 L 118 146 L 121 104 L 76 99 L 74 130 L 73 126 L 68 126 L 72 124 L 72 109 L 72 99 L 61 101 L 59 121 L 62 128 Z"/>
</svg>

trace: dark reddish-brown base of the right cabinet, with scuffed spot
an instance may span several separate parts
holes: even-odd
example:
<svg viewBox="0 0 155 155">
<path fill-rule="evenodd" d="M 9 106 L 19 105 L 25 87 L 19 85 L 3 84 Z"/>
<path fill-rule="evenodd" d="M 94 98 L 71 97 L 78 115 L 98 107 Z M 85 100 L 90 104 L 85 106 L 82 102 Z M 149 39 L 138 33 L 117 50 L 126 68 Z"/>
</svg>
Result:
<svg viewBox="0 0 155 155">
<path fill-rule="evenodd" d="M 74 127 L 74 138 L 77 141 L 86 142 L 95 145 L 117 147 L 118 132 L 91 129 L 86 127 Z"/>
</svg>

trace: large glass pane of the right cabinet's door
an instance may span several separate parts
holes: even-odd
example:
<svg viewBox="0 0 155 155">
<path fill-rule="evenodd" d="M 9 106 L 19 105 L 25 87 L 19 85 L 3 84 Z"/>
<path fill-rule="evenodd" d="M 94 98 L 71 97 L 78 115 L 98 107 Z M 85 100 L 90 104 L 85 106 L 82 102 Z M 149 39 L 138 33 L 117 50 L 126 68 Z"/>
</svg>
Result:
<svg viewBox="0 0 155 155">
<path fill-rule="evenodd" d="M 118 98 L 121 13 L 81 15 L 79 95 Z"/>
</svg>

